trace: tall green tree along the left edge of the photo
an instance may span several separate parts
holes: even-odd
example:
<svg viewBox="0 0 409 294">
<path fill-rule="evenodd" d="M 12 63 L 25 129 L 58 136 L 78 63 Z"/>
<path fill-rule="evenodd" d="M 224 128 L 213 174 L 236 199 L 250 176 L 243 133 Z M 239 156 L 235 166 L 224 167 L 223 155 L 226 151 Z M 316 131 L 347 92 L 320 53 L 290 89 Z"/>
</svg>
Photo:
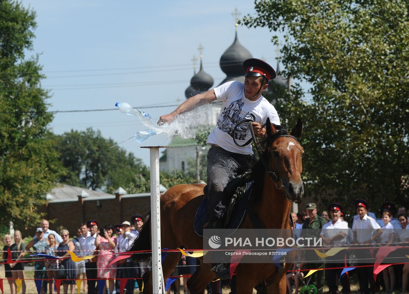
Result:
<svg viewBox="0 0 409 294">
<path fill-rule="evenodd" d="M 0 1 L 0 223 L 36 225 L 62 172 L 48 124 L 49 98 L 33 49 L 36 13 L 10 0 Z"/>
</svg>

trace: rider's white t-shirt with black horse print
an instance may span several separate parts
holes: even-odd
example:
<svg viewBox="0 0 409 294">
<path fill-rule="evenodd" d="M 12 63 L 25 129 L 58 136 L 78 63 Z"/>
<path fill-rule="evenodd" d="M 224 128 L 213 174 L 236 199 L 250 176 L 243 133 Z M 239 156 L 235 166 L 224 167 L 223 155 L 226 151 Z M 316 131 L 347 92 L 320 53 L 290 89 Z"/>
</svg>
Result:
<svg viewBox="0 0 409 294">
<path fill-rule="evenodd" d="M 223 102 L 217 120 L 217 125 L 211 130 L 207 144 L 216 144 L 223 149 L 240 154 L 253 154 L 252 145 L 238 147 L 233 141 L 233 130 L 236 124 L 243 119 L 253 119 L 264 124 L 267 117 L 270 122 L 280 124 L 276 109 L 270 102 L 261 96 L 256 101 L 250 101 L 244 96 L 244 85 L 238 81 L 231 81 L 214 88 L 216 99 Z M 236 141 L 244 144 L 251 138 L 249 126 L 243 123 L 236 131 Z"/>
</svg>

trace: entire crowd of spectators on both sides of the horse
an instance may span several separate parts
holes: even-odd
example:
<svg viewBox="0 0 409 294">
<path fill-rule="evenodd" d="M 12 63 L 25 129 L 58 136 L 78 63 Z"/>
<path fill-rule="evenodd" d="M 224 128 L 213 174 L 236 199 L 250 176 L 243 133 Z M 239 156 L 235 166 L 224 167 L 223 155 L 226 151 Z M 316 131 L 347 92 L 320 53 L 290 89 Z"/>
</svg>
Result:
<svg viewBox="0 0 409 294">
<path fill-rule="evenodd" d="M 376 219 L 374 213 L 369 211 L 369 204 L 364 199 L 356 200 L 355 208 L 357 215 L 351 217 L 348 224 L 344 220 L 345 213 L 341 204 L 330 204 L 328 210 L 318 214 L 316 204 L 308 203 L 303 213 L 292 213 L 294 235 L 296 238 L 305 238 L 309 234 L 314 234 L 314 230 L 311 229 L 315 229 L 318 232 L 317 235 L 323 240 L 323 245 L 328 248 L 344 245 L 352 246 L 353 244 L 371 247 L 373 243 L 378 243 L 379 247 L 409 242 L 409 219 L 405 207 L 399 207 L 395 210 L 395 206 L 391 202 L 385 202 L 381 206 L 380 218 L 378 219 Z M 397 218 L 394 217 L 395 214 Z M 41 293 L 49 292 L 53 294 L 56 291 L 54 283 L 56 279 L 63 280 L 64 293 L 74 293 L 75 281 L 79 279 L 84 281 L 82 284 L 83 291 L 88 293 L 98 293 L 97 279 L 106 279 L 107 281 L 103 293 L 119 293 L 120 278 L 128 278 L 125 293 L 133 293 L 135 288 L 142 291 L 142 280 L 136 278 L 141 278 L 144 272 L 149 270 L 150 264 L 135 264 L 123 259 L 109 265 L 116 258 L 116 255 L 112 253 L 120 253 L 128 249 L 137 238 L 139 229 L 144 223 L 142 215 L 139 214 L 133 215 L 130 220 L 130 222 L 125 220 L 114 226 L 107 224 L 102 229 L 99 229 L 97 220 L 90 220 L 79 225 L 76 236 L 72 240 L 69 231 L 64 229 L 58 234 L 56 231 L 49 229 L 47 220 L 42 220 L 40 227 L 35 231 L 34 238 L 27 245 L 22 242 L 20 231 L 15 231 L 13 237 L 5 235 L 4 242 L 6 246 L 3 248 L 2 259 L 7 260 L 7 249 L 11 251 L 13 261 L 21 260 L 26 252 L 65 257 L 69 256 L 69 253 L 66 252 L 68 250 L 73 251 L 77 256 L 94 256 L 92 259 L 81 260 L 77 263 L 74 263 L 71 258 L 36 261 L 34 264 L 34 279 L 43 280 Z M 362 229 L 370 229 L 371 233 Z M 348 276 L 345 274 L 341 276 L 342 269 L 328 269 L 342 267 L 340 263 L 307 263 L 306 250 L 298 248 L 296 252 L 297 262 L 292 266 L 293 271 L 286 276 L 289 293 L 292 293 L 293 288 L 295 288 L 295 293 L 299 291 L 303 283 L 301 278 L 306 274 L 304 270 L 316 268 L 327 268 L 325 271 L 315 272 L 310 281 L 311 284 L 317 287 L 319 293 L 323 292 L 325 281 L 329 293 L 338 292 L 338 281 L 342 286 L 342 293 L 350 292 L 347 283 Z M 370 250 L 361 250 L 359 256 L 361 259 L 371 258 L 370 252 Z M 344 252 L 340 252 L 333 259 L 345 260 L 345 265 L 347 265 L 349 256 L 346 256 Z M 16 293 L 15 280 L 17 278 L 22 279 L 21 293 L 26 292 L 24 264 L 4 264 L 6 278 L 12 294 Z M 192 274 L 196 270 L 196 267 L 193 267 L 193 265 L 196 265 L 196 259 L 182 258 L 178 265 L 180 267 L 176 268 L 172 275 Z M 191 267 L 184 269 L 184 265 Z M 360 263 L 360 265 L 366 265 L 366 263 Z M 361 293 L 374 291 L 375 281 L 373 280 L 372 271 L 373 267 L 357 268 Z M 382 276 L 381 284 L 384 292 L 391 293 L 396 287 L 400 287 L 400 290 L 405 292 L 408 290 L 409 264 L 389 266 L 382 271 L 380 276 Z M 184 279 L 184 289 L 188 293 L 186 280 Z M 176 281 L 172 287 L 173 290 L 178 291 L 180 283 Z"/>
</svg>

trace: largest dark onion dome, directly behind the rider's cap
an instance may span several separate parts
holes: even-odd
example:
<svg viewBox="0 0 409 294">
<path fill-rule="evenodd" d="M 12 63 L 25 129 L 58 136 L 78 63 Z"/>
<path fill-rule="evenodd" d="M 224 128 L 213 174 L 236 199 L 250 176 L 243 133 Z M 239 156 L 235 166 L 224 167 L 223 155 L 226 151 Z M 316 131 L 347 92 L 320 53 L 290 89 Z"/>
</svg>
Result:
<svg viewBox="0 0 409 294">
<path fill-rule="evenodd" d="M 227 76 L 241 76 L 245 74 L 242 68 L 243 62 L 249 58 L 253 56 L 238 42 L 236 32 L 233 44 L 220 57 L 220 67 Z"/>
</svg>

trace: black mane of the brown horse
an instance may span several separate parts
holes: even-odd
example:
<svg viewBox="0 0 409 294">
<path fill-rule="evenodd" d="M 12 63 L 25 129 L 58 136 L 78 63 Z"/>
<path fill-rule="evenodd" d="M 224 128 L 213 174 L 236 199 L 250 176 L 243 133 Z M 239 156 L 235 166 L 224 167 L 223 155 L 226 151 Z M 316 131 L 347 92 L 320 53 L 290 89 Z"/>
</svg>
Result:
<svg viewBox="0 0 409 294">
<path fill-rule="evenodd" d="M 274 128 L 276 129 L 276 133 L 274 135 L 270 136 L 265 136 L 262 140 L 258 142 L 256 145 L 256 148 L 258 150 L 261 150 L 261 153 L 263 154 L 263 158 L 267 164 L 269 164 L 269 152 L 268 148 L 270 148 L 271 144 L 277 139 L 277 137 L 282 136 L 282 135 L 288 135 L 287 130 L 280 125 L 276 125 L 272 123 Z M 266 124 L 264 124 L 264 127 Z M 264 187 L 264 173 L 265 173 L 265 168 L 263 166 L 263 163 L 259 159 L 256 164 L 254 164 L 252 168 L 252 192 L 251 192 L 251 197 L 250 197 L 250 203 L 252 204 L 257 204 L 261 200 L 261 193 L 263 193 L 263 187 Z"/>
</svg>

